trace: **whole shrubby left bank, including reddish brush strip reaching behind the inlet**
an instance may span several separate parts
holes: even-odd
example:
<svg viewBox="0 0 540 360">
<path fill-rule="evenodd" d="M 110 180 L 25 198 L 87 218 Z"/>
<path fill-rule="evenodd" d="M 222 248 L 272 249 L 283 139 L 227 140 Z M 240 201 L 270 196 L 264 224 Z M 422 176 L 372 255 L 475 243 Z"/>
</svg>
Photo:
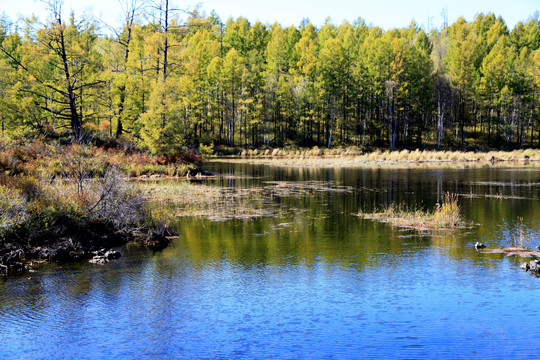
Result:
<svg viewBox="0 0 540 360">
<path fill-rule="evenodd" d="M 0 141 L 0 275 L 24 271 L 32 260 L 83 259 L 130 241 L 166 246 L 174 216 L 126 177 L 179 176 L 200 165 L 185 156 Z"/>
</svg>

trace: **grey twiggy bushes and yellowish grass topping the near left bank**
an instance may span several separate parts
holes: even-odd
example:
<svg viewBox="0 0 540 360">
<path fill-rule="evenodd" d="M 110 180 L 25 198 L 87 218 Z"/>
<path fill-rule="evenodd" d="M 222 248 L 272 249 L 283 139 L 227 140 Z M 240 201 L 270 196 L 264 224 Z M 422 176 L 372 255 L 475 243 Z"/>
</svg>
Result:
<svg viewBox="0 0 540 360">
<path fill-rule="evenodd" d="M 90 225 L 126 232 L 144 227 L 149 215 L 144 198 L 116 170 L 80 181 L 4 178 L 5 185 L 0 185 L 0 239 L 30 245 Z"/>
</svg>

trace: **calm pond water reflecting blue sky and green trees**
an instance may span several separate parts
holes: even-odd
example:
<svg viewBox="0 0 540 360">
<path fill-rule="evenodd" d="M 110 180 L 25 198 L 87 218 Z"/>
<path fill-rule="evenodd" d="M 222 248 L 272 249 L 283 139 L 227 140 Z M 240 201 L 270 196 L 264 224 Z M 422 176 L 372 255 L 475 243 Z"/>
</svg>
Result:
<svg viewBox="0 0 540 360">
<path fill-rule="evenodd" d="M 540 169 L 292 169 L 209 163 L 255 189 L 258 218 L 180 218 L 153 253 L 47 265 L 0 282 L 0 358 L 531 358 L 540 279 L 477 252 L 519 230 L 540 245 Z M 459 194 L 470 229 L 362 220 Z"/>
</svg>

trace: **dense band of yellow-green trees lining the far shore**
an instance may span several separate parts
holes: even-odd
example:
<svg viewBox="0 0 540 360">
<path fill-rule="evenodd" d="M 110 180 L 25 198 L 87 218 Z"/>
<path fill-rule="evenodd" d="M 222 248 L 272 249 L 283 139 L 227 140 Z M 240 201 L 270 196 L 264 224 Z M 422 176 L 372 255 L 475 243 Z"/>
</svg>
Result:
<svg viewBox="0 0 540 360">
<path fill-rule="evenodd" d="M 124 0 L 99 19 L 0 21 L 1 135 L 190 144 L 540 146 L 540 19 L 426 33 L 361 18 L 282 27 Z M 104 35 L 114 34 L 114 35 Z"/>
</svg>

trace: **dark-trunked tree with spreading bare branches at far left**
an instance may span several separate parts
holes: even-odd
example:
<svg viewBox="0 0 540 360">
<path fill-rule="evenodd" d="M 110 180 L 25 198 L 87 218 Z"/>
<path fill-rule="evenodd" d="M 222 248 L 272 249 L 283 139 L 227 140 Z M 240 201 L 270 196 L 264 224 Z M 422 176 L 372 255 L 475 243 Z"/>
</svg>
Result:
<svg viewBox="0 0 540 360">
<path fill-rule="evenodd" d="M 100 60 L 94 48 L 95 26 L 86 19 L 69 24 L 63 21 L 61 3 L 48 3 L 54 21 L 33 32 L 38 24 L 27 27 L 30 38 L 17 54 L 5 46 L 2 52 L 26 73 L 21 91 L 35 98 L 41 110 L 50 114 L 51 123 L 67 120 L 75 141 L 82 140 L 83 119 L 92 118 L 86 100 L 97 94 Z M 89 110 L 89 113 L 85 111 Z"/>
</svg>

